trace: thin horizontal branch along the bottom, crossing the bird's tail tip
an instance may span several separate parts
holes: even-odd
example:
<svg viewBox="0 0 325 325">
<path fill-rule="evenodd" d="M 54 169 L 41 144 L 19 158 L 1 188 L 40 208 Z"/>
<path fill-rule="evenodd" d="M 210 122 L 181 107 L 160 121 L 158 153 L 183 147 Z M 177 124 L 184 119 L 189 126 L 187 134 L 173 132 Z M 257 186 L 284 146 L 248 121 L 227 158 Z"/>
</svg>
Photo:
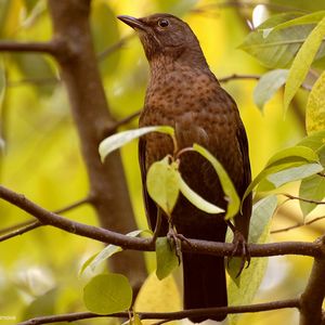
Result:
<svg viewBox="0 0 325 325">
<path fill-rule="evenodd" d="M 242 314 L 255 313 L 270 310 L 278 310 L 285 308 L 299 308 L 299 299 L 288 299 L 282 301 L 271 301 L 264 303 L 256 303 L 249 306 L 231 306 L 207 309 L 192 309 L 178 312 L 136 312 L 141 320 L 183 320 L 190 316 L 217 316 L 219 314 Z M 55 322 L 74 322 L 80 320 L 88 320 L 94 317 L 123 317 L 129 318 L 129 312 L 120 312 L 110 315 L 99 315 L 90 312 L 72 313 L 54 316 L 36 317 L 20 325 L 36 325 L 36 324 L 50 324 Z"/>
</svg>

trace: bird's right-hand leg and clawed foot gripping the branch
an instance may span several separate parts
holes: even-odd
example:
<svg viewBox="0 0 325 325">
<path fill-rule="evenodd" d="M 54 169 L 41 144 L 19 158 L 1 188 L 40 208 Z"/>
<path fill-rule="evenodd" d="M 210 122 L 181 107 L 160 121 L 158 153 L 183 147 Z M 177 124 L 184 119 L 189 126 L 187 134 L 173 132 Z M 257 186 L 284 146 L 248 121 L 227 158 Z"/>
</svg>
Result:
<svg viewBox="0 0 325 325">
<path fill-rule="evenodd" d="M 250 253 L 248 249 L 248 244 L 244 235 L 232 224 L 231 221 L 226 221 L 226 224 L 229 225 L 229 227 L 234 234 L 233 244 L 235 245 L 235 249 L 233 250 L 232 256 L 229 258 L 227 264 L 235 255 L 239 253 L 242 258 L 242 262 L 240 262 L 238 273 L 236 275 L 236 277 L 238 277 L 245 268 L 245 263 L 247 262 L 246 269 L 250 264 Z"/>
</svg>

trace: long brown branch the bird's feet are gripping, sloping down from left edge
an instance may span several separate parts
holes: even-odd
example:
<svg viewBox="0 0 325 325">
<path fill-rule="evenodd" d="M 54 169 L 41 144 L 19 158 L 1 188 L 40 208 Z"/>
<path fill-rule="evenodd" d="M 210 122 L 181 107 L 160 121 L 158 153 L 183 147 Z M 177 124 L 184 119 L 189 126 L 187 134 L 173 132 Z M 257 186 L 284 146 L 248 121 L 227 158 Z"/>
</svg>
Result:
<svg viewBox="0 0 325 325">
<path fill-rule="evenodd" d="M 46 210 L 27 199 L 24 195 L 17 194 L 4 186 L 0 186 L 0 197 L 30 213 L 42 224 L 52 225 L 66 232 L 89 237 L 102 243 L 121 246 L 123 249 L 145 251 L 155 250 L 155 244 L 151 239 L 130 237 L 106 229 L 72 221 Z M 325 256 L 324 245 L 320 240 L 315 243 L 285 242 L 263 245 L 250 244 L 248 245 L 248 248 L 251 257 L 301 255 L 321 258 Z M 182 250 L 214 256 L 232 256 L 234 252 L 234 244 L 188 239 L 186 242 L 182 242 Z"/>
</svg>

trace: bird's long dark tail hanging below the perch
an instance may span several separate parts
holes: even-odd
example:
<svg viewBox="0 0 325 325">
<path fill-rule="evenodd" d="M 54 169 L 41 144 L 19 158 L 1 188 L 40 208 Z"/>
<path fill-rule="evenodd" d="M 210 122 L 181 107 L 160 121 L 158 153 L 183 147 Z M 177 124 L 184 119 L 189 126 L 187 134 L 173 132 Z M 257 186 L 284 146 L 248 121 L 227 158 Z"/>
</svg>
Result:
<svg viewBox="0 0 325 325">
<path fill-rule="evenodd" d="M 226 283 L 223 257 L 183 253 L 184 308 L 226 307 Z M 210 317 L 222 321 L 226 314 Z M 199 323 L 208 317 L 190 317 Z"/>
</svg>

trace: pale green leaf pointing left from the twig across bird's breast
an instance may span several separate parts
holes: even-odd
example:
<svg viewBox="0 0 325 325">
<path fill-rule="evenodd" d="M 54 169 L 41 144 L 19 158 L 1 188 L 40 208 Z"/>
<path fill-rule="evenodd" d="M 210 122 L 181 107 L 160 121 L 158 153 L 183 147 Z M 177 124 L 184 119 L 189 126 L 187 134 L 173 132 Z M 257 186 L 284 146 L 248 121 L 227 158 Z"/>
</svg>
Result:
<svg viewBox="0 0 325 325">
<path fill-rule="evenodd" d="M 104 161 L 106 156 L 108 156 L 115 150 L 123 146 L 125 144 L 127 144 L 128 142 L 134 139 L 138 139 L 151 132 L 160 132 L 160 133 L 169 134 L 172 138 L 174 136 L 173 128 L 168 126 L 146 127 L 146 128 L 128 130 L 128 131 L 116 133 L 114 135 L 104 139 L 100 143 L 99 151 L 100 151 L 102 161 Z"/>
</svg>

